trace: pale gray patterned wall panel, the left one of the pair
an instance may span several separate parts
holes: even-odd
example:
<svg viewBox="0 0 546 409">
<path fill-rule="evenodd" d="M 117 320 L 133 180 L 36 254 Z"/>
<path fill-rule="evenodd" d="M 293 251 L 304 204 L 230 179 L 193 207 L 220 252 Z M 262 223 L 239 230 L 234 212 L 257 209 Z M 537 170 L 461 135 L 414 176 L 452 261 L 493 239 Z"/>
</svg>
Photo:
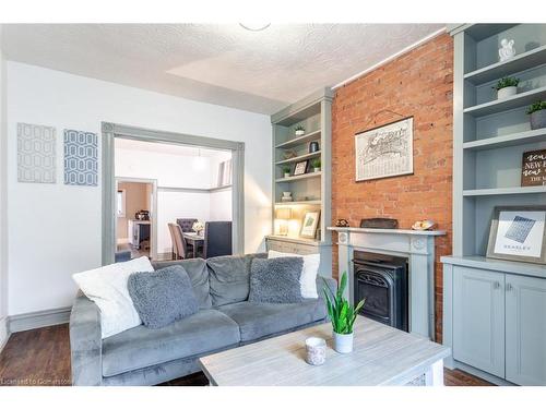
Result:
<svg viewBox="0 0 546 409">
<path fill-rule="evenodd" d="M 55 128 L 17 123 L 17 181 L 56 183 Z"/>
</svg>

